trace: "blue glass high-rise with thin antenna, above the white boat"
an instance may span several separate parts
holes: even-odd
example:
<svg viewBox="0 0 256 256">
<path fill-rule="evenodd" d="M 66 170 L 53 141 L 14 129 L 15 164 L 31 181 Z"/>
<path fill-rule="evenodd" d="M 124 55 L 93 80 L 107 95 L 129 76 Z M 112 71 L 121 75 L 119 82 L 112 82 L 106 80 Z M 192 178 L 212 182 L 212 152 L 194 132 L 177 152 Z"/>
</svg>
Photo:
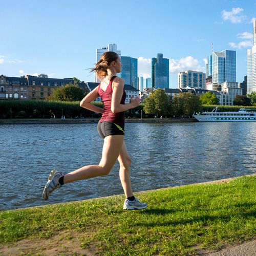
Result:
<svg viewBox="0 0 256 256">
<path fill-rule="evenodd" d="M 236 51 L 212 52 L 207 60 L 207 77 L 212 76 L 212 83 L 236 82 Z"/>
</svg>

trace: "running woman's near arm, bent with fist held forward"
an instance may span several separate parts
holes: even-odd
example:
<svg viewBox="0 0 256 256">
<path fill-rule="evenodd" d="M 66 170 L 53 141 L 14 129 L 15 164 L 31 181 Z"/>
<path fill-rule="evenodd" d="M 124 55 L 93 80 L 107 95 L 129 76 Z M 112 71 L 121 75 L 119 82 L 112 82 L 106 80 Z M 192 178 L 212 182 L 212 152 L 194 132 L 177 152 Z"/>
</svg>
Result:
<svg viewBox="0 0 256 256">
<path fill-rule="evenodd" d="M 133 99 L 133 96 L 129 104 L 120 104 L 123 96 L 124 80 L 120 77 L 116 77 L 112 83 L 113 94 L 111 100 L 111 111 L 113 113 L 124 112 L 135 108 L 140 104 L 140 98 Z"/>
</svg>

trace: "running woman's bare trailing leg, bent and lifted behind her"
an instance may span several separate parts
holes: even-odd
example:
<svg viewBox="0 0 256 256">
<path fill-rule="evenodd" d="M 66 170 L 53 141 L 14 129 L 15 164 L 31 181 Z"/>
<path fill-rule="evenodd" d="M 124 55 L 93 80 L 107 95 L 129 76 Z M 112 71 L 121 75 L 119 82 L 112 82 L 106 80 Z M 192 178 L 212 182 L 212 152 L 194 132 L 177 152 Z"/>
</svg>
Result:
<svg viewBox="0 0 256 256">
<path fill-rule="evenodd" d="M 99 165 L 87 165 L 64 176 L 64 184 L 90 179 L 96 176 L 108 175 L 114 166 L 123 144 L 123 135 L 110 135 L 104 138 L 102 157 Z"/>
</svg>

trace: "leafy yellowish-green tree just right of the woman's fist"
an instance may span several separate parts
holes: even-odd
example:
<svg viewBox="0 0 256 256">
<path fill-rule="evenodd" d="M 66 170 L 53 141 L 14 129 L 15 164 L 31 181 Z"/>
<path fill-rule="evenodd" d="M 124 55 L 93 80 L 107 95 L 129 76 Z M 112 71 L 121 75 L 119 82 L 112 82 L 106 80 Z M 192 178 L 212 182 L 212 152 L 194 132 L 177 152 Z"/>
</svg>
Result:
<svg viewBox="0 0 256 256">
<path fill-rule="evenodd" d="M 155 114 L 157 116 L 166 116 L 168 114 L 168 96 L 163 89 L 157 89 L 144 100 L 144 112 L 146 114 Z"/>
</svg>

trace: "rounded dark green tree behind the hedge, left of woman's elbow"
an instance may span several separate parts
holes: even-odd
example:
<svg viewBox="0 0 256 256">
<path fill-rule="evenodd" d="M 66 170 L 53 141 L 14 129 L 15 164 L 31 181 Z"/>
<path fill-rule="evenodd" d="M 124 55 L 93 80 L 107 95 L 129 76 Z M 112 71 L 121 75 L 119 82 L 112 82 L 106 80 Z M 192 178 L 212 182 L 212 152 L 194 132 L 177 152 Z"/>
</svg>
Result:
<svg viewBox="0 0 256 256">
<path fill-rule="evenodd" d="M 48 100 L 76 101 L 81 100 L 86 94 L 79 86 L 67 83 L 64 87 L 57 88 Z"/>
</svg>

